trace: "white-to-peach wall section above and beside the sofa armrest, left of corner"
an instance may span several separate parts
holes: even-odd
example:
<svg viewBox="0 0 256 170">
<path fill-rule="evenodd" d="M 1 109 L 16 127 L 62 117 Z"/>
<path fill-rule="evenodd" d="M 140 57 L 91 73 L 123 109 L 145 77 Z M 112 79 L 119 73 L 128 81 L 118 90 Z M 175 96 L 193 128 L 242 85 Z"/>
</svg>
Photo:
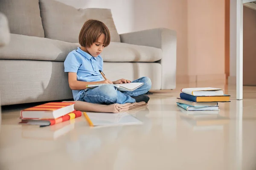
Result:
<svg viewBox="0 0 256 170">
<path fill-rule="evenodd" d="M 132 31 L 161 27 L 177 31 L 177 79 L 182 82 L 188 74 L 187 0 L 134 0 Z"/>
</svg>

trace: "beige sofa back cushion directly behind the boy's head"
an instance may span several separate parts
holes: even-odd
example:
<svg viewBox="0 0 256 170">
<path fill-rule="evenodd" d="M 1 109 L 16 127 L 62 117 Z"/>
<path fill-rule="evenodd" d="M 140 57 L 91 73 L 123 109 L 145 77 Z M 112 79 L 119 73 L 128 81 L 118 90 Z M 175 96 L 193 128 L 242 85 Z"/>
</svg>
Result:
<svg viewBox="0 0 256 170">
<path fill-rule="evenodd" d="M 79 42 L 79 33 L 88 19 L 105 23 L 111 41 L 120 42 L 110 9 L 76 9 L 55 0 L 39 0 L 45 37 L 66 42 Z"/>
</svg>

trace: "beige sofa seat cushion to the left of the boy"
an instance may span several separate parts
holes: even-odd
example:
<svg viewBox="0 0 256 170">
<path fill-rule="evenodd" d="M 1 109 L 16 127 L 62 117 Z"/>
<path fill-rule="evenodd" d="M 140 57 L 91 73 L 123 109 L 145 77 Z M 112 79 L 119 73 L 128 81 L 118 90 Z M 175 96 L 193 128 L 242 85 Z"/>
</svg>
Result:
<svg viewBox="0 0 256 170">
<path fill-rule="evenodd" d="M 70 42 L 11 34 L 9 45 L 0 48 L 0 59 L 64 61 L 75 49 Z"/>
</svg>

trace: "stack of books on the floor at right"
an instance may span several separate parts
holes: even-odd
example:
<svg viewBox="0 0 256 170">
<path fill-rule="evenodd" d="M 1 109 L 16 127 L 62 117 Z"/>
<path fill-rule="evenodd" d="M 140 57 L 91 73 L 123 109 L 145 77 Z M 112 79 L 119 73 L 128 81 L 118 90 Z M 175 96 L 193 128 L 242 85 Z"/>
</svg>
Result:
<svg viewBox="0 0 256 170">
<path fill-rule="evenodd" d="M 220 88 L 183 88 L 177 105 L 186 111 L 219 111 L 218 102 L 230 102 Z"/>
</svg>

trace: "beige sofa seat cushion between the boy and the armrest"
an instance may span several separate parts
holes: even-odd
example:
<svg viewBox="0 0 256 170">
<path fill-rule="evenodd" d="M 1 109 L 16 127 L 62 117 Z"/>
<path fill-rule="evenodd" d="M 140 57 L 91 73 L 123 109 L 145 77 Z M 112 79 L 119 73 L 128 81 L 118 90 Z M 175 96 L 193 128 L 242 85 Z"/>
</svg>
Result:
<svg viewBox="0 0 256 170">
<path fill-rule="evenodd" d="M 162 59 L 160 48 L 111 42 L 101 54 L 105 62 L 155 62 Z"/>
</svg>

